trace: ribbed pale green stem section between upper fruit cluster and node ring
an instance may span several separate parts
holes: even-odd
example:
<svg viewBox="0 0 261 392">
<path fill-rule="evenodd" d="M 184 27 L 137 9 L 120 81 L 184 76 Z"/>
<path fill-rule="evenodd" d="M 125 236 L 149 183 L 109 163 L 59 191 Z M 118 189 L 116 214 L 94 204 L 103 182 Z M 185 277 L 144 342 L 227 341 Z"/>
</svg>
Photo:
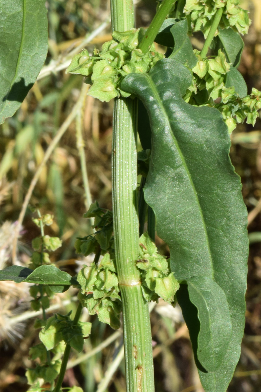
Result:
<svg viewBox="0 0 261 392">
<path fill-rule="evenodd" d="M 137 100 L 117 99 L 113 112 L 113 224 L 120 284 L 139 283 L 137 213 Z M 118 259 L 118 260 L 117 260 Z M 123 262 L 122 262 L 123 261 Z"/>
</svg>

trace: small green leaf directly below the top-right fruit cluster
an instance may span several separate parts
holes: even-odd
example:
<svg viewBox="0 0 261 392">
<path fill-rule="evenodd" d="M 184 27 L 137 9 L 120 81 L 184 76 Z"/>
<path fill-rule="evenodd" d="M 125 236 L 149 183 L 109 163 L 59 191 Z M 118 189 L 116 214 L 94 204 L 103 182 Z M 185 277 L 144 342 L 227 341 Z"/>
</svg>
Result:
<svg viewBox="0 0 261 392">
<path fill-rule="evenodd" d="M 227 57 L 227 61 L 237 68 L 241 60 L 244 42 L 241 36 L 229 27 L 228 29 L 219 29 L 216 36 L 217 49 L 221 48 Z"/>
</svg>

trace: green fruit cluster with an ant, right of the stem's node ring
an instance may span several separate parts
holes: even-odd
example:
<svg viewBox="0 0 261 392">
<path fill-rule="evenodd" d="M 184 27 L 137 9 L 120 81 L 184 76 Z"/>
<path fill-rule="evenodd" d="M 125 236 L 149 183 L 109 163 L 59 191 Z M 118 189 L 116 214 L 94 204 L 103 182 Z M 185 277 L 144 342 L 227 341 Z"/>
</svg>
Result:
<svg viewBox="0 0 261 392">
<path fill-rule="evenodd" d="M 179 283 L 173 272 L 169 272 L 166 258 L 157 253 L 157 247 L 147 233 L 140 236 L 137 267 L 141 271 L 141 288 L 146 301 L 157 301 L 163 298 L 168 303 L 175 303 L 174 296 L 179 289 Z"/>
</svg>

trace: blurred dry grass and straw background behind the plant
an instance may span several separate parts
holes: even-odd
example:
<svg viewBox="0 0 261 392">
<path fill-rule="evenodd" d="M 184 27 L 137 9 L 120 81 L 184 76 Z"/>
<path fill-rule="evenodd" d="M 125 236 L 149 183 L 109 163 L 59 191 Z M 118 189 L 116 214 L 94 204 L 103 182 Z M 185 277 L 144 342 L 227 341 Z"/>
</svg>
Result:
<svg viewBox="0 0 261 392">
<path fill-rule="evenodd" d="M 245 49 L 239 66 L 250 93 L 252 87 L 261 90 L 261 1 L 241 3 L 252 20 L 249 34 L 244 37 Z M 65 68 L 74 51 L 86 47 L 91 52 L 94 46 L 99 48 L 111 39 L 110 1 L 47 0 L 46 5 L 49 20 L 46 63 L 20 109 L 0 125 L 0 269 L 13 261 L 26 266 L 30 262 L 31 241 L 40 234 L 32 222 L 35 214 L 24 203 L 32 191 L 29 205 L 39 205 L 42 214 L 54 214 L 54 223 L 45 234 L 63 240 L 63 246 L 50 255 L 51 261 L 75 274 L 86 263 L 76 255 L 74 241 L 90 234 L 90 222 L 83 218 L 88 203 L 97 200 L 101 207 L 112 209 L 113 102 L 102 103 L 88 96 L 78 107 L 76 118 L 71 118 L 74 105 L 79 103 L 83 78 L 66 74 Z M 155 14 L 156 1 L 137 0 L 135 5 L 137 27 L 148 26 Z M 193 44 L 202 48 L 198 35 Z M 53 142 L 55 135 L 59 136 L 57 142 Z M 261 120 L 257 119 L 254 129 L 240 124 L 231 139 L 231 159 L 241 176 L 249 212 L 250 255 L 245 335 L 228 391 L 256 392 L 261 390 Z M 84 179 L 82 176 L 83 154 L 88 181 L 87 176 Z M 22 229 L 16 245 L 19 222 Z M 163 254 L 167 252 L 159 239 L 157 245 Z M 51 301 L 52 309 L 61 313 L 74 309 L 76 295 L 74 289 L 58 294 Z M 30 301 L 28 284 L 0 282 L 1 392 L 28 389 L 25 371 L 33 366 L 29 348 L 39 343 Z M 85 392 L 126 391 L 124 361 L 119 350 L 121 332 L 115 334 L 85 312 L 82 317 L 83 321 L 93 323 L 83 353 L 89 353 L 89 358 L 72 352 L 70 361 L 75 366 L 67 370 L 64 385 L 79 385 Z M 178 306 L 173 309 L 160 302 L 151 308 L 151 327 L 155 390 L 202 392 L 189 334 Z M 95 353 L 97 345 L 99 350 Z"/>
</svg>

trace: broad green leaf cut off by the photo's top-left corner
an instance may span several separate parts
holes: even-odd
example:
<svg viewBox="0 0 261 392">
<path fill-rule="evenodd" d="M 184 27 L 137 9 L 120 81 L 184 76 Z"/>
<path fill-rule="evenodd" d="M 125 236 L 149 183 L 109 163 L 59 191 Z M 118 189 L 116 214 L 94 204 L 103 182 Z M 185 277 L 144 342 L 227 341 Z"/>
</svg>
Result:
<svg viewBox="0 0 261 392">
<path fill-rule="evenodd" d="M 13 116 L 47 53 L 45 0 L 0 2 L 0 124 Z"/>
</svg>

